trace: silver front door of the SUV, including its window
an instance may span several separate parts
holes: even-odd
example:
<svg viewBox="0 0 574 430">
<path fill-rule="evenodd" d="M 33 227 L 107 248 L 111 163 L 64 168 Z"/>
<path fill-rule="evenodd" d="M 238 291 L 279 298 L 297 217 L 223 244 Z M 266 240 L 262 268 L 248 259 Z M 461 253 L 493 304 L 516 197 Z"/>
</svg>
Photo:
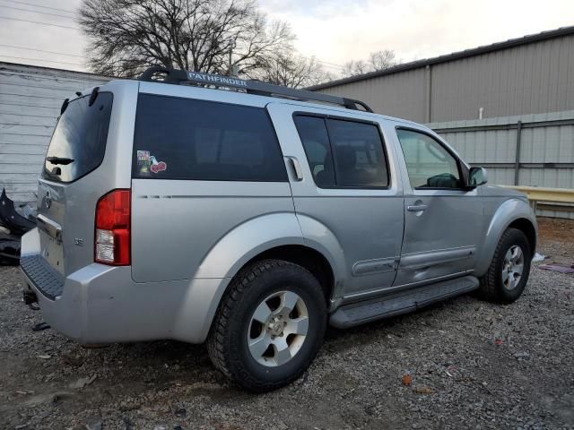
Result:
<svg viewBox="0 0 574 430">
<path fill-rule="evenodd" d="M 421 138 L 419 139 L 419 136 Z M 443 142 L 409 130 L 404 150 L 404 239 L 395 285 L 472 271 L 483 235 L 483 199 L 464 191 L 459 160 Z"/>
</svg>

